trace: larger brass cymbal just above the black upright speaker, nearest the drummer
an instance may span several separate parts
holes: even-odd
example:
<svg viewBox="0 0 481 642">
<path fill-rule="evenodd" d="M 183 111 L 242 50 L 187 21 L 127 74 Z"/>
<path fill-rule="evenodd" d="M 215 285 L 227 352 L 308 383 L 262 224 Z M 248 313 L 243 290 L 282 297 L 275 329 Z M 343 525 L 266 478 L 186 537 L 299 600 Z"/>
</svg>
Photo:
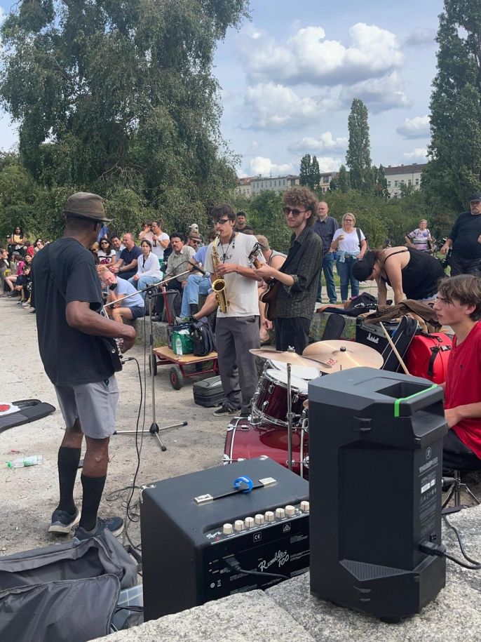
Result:
<svg viewBox="0 0 481 642">
<path fill-rule="evenodd" d="M 308 345 L 303 356 L 315 359 L 323 373 L 337 373 L 348 368 L 382 368 L 384 359 L 374 348 L 346 340 L 317 341 Z"/>
</svg>

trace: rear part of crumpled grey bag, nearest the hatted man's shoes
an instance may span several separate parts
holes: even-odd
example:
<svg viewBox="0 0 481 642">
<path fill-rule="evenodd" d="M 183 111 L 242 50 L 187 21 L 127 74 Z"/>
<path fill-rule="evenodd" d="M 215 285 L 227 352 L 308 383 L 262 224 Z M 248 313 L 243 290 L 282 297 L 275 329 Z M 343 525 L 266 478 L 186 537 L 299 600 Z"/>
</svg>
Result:
<svg viewBox="0 0 481 642">
<path fill-rule="evenodd" d="M 105 529 L 83 542 L 48 546 L 0 557 L 0 590 L 54 580 L 81 580 L 110 573 L 123 589 L 137 584 L 137 565 Z"/>
</svg>

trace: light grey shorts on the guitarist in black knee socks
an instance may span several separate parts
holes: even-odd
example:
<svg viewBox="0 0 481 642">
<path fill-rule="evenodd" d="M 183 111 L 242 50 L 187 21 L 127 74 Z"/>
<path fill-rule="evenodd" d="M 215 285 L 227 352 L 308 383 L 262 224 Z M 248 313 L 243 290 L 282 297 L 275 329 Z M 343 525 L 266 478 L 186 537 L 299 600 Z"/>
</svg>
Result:
<svg viewBox="0 0 481 642">
<path fill-rule="evenodd" d="M 72 428 L 79 419 L 83 434 L 92 439 L 105 439 L 114 434 L 118 402 L 114 375 L 95 383 L 55 386 L 55 392 L 67 428 Z"/>
</svg>

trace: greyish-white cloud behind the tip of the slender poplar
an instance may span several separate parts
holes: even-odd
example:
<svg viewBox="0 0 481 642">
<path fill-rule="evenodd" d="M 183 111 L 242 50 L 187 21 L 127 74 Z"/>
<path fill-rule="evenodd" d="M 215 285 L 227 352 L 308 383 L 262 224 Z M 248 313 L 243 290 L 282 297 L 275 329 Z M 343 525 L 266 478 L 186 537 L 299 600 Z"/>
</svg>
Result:
<svg viewBox="0 0 481 642">
<path fill-rule="evenodd" d="M 402 91 L 402 80 L 398 72 L 392 72 L 384 78 L 376 78 L 355 83 L 341 89 L 339 98 L 345 107 L 350 107 L 353 98 L 360 98 L 370 112 L 379 114 L 388 109 L 410 107 L 411 101 Z"/>
</svg>

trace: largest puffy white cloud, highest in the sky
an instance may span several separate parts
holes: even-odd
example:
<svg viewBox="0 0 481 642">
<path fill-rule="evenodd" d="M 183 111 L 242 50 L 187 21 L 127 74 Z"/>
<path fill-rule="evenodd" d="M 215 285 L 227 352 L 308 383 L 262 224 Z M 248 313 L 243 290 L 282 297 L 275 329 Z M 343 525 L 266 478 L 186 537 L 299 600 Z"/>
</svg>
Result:
<svg viewBox="0 0 481 642">
<path fill-rule="evenodd" d="M 285 44 L 259 32 L 242 40 L 241 57 L 252 82 L 311 83 L 325 86 L 383 76 L 404 62 L 395 34 L 358 22 L 351 44 L 326 40 L 323 27 L 299 29 Z"/>
</svg>

